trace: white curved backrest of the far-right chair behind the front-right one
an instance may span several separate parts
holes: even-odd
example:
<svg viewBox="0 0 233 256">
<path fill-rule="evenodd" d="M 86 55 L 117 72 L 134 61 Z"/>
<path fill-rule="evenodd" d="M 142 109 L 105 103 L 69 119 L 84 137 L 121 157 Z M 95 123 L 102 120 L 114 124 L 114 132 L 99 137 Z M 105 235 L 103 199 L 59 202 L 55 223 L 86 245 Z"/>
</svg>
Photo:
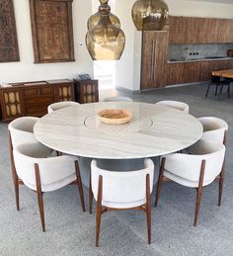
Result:
<svg viewBox="0 0 233 256">
<path fill-rule="evenodd" d="M 214 140 L 226 144 L 226 131 L 228 125 L 224 120 L 214 117 L 203 117 L 198 119 L 203 126 L 201 139 Z"/>
</svg>

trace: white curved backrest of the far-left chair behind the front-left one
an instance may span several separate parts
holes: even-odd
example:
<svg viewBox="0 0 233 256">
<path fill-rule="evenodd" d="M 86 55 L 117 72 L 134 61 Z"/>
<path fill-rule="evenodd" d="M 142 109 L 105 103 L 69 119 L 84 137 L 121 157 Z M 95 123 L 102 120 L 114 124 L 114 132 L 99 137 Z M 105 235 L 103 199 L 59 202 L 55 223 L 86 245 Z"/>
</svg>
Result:
<svg viewBox="0 0 233 256">
<path fill-rule="evenodd" d="M 23 117 L 8 125 L 13 148 L 27 142 L 38 142 L 34 135 L 34 126 L 38 121 L 39 118 Z"/>
</svg>

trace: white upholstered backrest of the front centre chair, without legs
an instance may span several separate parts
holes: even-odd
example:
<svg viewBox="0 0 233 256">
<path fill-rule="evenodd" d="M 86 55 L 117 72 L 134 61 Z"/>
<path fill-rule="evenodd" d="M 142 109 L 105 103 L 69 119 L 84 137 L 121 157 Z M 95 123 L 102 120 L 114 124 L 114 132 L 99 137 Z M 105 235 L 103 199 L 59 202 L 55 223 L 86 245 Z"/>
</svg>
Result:
<svg viewBox="0 0 233 256">
<path fill-rule="evenodd" d="M 130 208 L 145 203 L 146 175 L 150 176 L 150 193 L 153 190 L 154 163 L 151 159 L 144 160 L 144 169 L 128 172 L 108 171 L 100 169 L 96 160 L 91 163 L 92 190 L 98 197 L 99 176 L 103 176 L 103 201 L 108 207 Z M 141 204 L 141 202 L 143 202 Z"/>
</svg>

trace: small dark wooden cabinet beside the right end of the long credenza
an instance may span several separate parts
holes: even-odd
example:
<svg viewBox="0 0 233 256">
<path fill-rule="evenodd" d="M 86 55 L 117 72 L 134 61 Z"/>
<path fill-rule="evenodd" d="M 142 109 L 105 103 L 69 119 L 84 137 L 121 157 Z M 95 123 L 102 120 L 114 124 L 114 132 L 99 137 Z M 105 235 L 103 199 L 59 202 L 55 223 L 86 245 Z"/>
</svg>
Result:
<svg viewBox="0 0 233 256">
<path fill-rule="evenodd" d="M 82 79 L 80 79 L 82 78 Z M 75 101 L 79 103 L 99 102 L 98 80 L 91 79 L 87 74 L 74 79 Z"/>
</svg>

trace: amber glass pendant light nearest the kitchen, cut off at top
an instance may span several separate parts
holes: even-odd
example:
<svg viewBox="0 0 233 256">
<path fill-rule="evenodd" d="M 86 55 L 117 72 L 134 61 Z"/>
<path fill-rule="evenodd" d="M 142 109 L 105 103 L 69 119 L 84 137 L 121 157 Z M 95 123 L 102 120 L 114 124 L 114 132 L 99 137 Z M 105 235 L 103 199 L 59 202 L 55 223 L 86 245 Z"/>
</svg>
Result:
<svg viewBox="0 0 233 256">
<path fill-rule="evenodd" d="M 132 6 L 132 20 L 138 31 L 161 31 L 168 19 L 163 0 L 137 0 Z"/>
</svg>

